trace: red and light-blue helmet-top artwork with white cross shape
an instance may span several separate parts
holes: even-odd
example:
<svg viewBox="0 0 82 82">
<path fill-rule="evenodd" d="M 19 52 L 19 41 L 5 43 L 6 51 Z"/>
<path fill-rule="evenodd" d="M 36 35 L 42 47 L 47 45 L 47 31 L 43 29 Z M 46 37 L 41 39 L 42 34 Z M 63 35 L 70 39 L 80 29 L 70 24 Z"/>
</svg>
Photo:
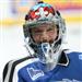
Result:
<svg viewBox="0 0 82 82">
<path fill-rule="evenodd" d="M 36 10 L 37 9 L 37 10 Z M 25 20 L 38 20 L 39 17 L 46 17 L 50 14 L 55 15 L 54 8 L 51 5 L 47 4 L 38 4 L 35 5 L 34 9 L 32 9 L 28 12 L 28 16 L 25 17 Z"/>
</svg>

